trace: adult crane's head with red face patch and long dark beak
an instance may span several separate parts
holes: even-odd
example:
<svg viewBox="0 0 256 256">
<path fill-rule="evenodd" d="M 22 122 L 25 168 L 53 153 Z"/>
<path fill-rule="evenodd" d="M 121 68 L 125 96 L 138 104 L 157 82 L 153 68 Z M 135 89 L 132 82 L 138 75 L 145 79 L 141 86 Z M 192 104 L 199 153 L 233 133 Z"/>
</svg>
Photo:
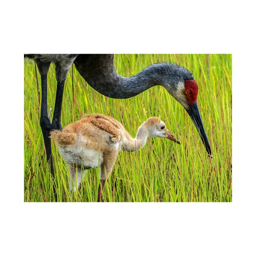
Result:
<svg viewBox="0 0 256 256">
<path fill-rule="evenodd" d="M 204 125 L 197 106 L 198 86 L 191 72 L 179 65 L 169 65 L 169 74 L 166 76 L 164 87 L 186 109 L 191 117 L 206 151 L 212 158 L 210 144 L 204 130 Z M 168 79 L 169 78 L 169 79 Z"/>
</svg>

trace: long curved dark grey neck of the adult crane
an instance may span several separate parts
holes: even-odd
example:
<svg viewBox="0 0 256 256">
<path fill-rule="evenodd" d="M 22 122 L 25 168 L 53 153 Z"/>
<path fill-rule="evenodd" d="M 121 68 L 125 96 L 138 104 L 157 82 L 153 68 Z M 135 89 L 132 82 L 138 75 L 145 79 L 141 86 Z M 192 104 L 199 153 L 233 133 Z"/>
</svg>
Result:
<svg viewBox="0 0 256 256">
<path fill-rule="evenodd" d="M 74 64 L 91 87 L 110 98 L 130 98 L 152 86 L 165 86 L 167 79 L 171 84 L 170 63 L 150 65 L 132 77 L 117 74 L 113 54 L 81 54 Z"/>
</svg>

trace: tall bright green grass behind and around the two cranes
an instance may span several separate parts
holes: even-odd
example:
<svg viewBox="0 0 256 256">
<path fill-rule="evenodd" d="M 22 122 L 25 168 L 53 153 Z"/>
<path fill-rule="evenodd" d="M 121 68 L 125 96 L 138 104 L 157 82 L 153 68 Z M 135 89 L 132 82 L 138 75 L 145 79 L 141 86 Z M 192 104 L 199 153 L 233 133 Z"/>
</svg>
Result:
<svg viewBox="0 0 256 256">
<path fill-rule="evenodd" d="M 151 63 L 171 61 L 189 69 L 199 85 L 198 104 L 212 148 L 206 150 L 183 107 L 156 86 L 136 97 L 117 100 L 92 89 L 73 68 L 65 83 L 62 126 L 86 113 L 103 113 L 121 121 L 135 137 L 148 117 L 158 116 L 180 140 L 150 138 L 138 152 L 121 152 L 106 182 L 104 202 L 232 202 L 232 56 L 231 54 L 117 54 L 121 76 L 133 76 Z M 38 74 L 39 93 L 41 80 Z M 54 109 L 54 65 L 48 73 L 48 111 Z M 35 64 L 24 62 L 24 201 L 54 202 L 39 126 L 40 101 Z M 52 111 L 53 113 L 53 111 Z M 51 113 L 51 117 L 52 117 Z M 78 193 L 70 193 L 67 165 L 52 143 L 59 202 L 95 202 L 98 169 L 85 175 Z"/>
</svg>

